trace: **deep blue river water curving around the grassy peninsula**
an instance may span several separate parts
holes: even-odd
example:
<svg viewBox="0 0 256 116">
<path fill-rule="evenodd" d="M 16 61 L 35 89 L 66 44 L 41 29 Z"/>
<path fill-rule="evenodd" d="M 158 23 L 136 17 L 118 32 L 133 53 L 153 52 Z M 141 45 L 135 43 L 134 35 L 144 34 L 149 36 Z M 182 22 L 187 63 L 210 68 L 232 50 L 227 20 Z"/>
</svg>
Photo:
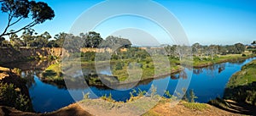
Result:
<svg viewBox="0 0 256 116">
<path fill-rule="evenodd" d="M 256 58 L 248 58 L 247 60 L 228 62 L 223 64 L 214 64 L 200 69 L 185 69 L 182 74 L 188 75 L 172 75 L 163 76 L 155 80 L 144 80 L 137 84 L 133 88 L 125 88 L 125 86 L 119 86 L 119 90 L 109 89 L 108 87 L 89 86 L 81 88 L 67 89 L 64 86 L 58 86 L 54 84 L 44 83 L 38 76 L 49 63 L 32 64 L 31 63 L 19 63 L 15 64 L 15 67 L 22 70 L 22 77 L 26 78 L 27 86 L 29 87 L 30 97 L 32 98 L 32 105 L 36 112 L 44 113 L 63 108 L 73 102 L 83 99 L 83 93 L 91 94 L 90 98 L 102 97 L 104 95 L 112 97 L 116 101 L 125 101 L 130 97 L 130 92 L 135 89 L 142 91 L 148 91 L 150 86 L 154 83 L 157 90 L 164 92 L 165 90 L 174 92 L 179 80 L 190 80 L 189 88 L 193 89 L 195 96 L 195 102 L 208 102 L 216 97 L 223 97 L 224 87 L 230 79 L 230 76 L 241 69 L 241 66 L 249 63 Z M 5 65 L 6 67 L 12 67 L 11 64 Z M 27 68 L 29 67 L 29 68 Z M 87 68 L 90 70 L 90 67 Z M 86 68 L 85 68 L 86 70 Z M 107 70 L 108 67 L 103 67 L 100 72 L 102 74 L 110 74 Z M 189 76 L 191 74 L 192 76 Z M 166 85 L 167 83 L 167 85 Z M 166 85 L 166 86 L 164 86 Z M 123 89 L 122 89 L 123 88 Z M 73 96 L 71 96 L 71 94 Z M 160 94 L 162 94 L 160 93 Z"/>
</svg>

